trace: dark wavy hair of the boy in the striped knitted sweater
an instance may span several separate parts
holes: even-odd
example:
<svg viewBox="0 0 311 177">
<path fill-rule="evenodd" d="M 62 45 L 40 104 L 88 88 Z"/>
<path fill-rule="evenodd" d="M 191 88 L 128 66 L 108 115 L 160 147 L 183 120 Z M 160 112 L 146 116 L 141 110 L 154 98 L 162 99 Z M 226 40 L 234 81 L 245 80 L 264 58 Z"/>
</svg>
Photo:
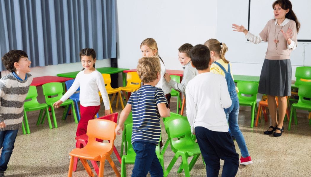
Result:
<svg viewBox="0 0 311 177">
<path fill-rule="evenodd" d="M 26 54 L 26 52 L 21 51 L 21 50 L 12 50 L 4 54 L 1 60 L 5 68 L 8 71 L 13 72 L 13 71 L 16 71 L 16 68 L 14 67 L 14 63 L 19 62 L 19 60 L 22 57 L 28 58 L 28 55 Z"/>
</svg>

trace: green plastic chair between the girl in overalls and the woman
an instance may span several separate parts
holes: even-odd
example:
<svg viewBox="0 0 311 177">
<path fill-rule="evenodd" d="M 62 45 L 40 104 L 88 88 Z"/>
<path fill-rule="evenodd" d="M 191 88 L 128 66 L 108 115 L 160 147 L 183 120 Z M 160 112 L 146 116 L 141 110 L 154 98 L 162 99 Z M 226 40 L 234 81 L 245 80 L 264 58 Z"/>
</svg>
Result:
<svg viewBox="0 0 311 177">
<path fill-rule="evenodd" d="M 239 88 L 238 98 L 240 106 L 251 106 L 251 128 L 254 126 L 255 111 L 258 111 L 257 106 L 257 93 L 258 83 L 256 82 L 238 82 L 237 87 Z M 242 95 L 244 94 L 244 95 Z M 251 95 L 251 96 L 246 96 Z"/>
</svg>

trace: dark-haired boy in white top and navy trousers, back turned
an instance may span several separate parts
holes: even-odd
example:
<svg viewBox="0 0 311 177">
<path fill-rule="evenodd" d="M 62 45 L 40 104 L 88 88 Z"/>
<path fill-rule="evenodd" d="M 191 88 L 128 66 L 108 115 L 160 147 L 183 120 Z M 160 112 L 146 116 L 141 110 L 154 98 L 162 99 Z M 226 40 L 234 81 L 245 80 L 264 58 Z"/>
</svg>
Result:
<svg viewBox="0 0 311 177">
<path fill-rule="evenodd" d="M 222 176 L 235 176 L 239 155 L 229 135 L 224 112 L 232 103 L 227 82 L 223 76 L 210 73 L 207 46 L 194 46 L 190 57 L 199 74 L 186 87 L 187 118 L 206 163 L 207 176 L 218 176 L 220 159 L 225 160 Z"/>
</svg>

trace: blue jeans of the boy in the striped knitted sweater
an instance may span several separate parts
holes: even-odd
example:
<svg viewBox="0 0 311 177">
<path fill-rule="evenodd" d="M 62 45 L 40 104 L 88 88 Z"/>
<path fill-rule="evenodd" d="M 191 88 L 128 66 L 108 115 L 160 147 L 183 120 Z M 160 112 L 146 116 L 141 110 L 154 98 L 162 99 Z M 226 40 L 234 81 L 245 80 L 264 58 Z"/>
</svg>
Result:
<svg viewBox="0 0 311 177">
<path fill-rule="evenodd" d="M 11 154 L 14 149 L 17 130 L 0 131 L 0 149 L 2 148 L 0 156 L 0 171 L 7 170 Z"/>
</svg>

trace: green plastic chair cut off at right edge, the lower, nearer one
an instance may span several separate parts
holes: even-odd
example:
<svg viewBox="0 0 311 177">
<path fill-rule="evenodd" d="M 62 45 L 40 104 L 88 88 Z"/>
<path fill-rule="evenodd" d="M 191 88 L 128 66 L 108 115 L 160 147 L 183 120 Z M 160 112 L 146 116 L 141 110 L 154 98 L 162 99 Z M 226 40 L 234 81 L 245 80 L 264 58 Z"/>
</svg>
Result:
<svg viewBox="0 0 311 177">
<path fill-rule="evenodd" d="M 299 85 L 298 96 L 298 103 L 293 103 L 290 109 L 290 121 L 288 124 L 288 130 L 290 130 L 290 124 L 293 114 L 295 119 L 295 125 L 298 124 L 296 109 L 308 110 L 309 112 L 311 111 L 311 86 L 304 84 Z M 309 120 L 309 125 L 311 125 L 311 119 Z"/>
</svg>

